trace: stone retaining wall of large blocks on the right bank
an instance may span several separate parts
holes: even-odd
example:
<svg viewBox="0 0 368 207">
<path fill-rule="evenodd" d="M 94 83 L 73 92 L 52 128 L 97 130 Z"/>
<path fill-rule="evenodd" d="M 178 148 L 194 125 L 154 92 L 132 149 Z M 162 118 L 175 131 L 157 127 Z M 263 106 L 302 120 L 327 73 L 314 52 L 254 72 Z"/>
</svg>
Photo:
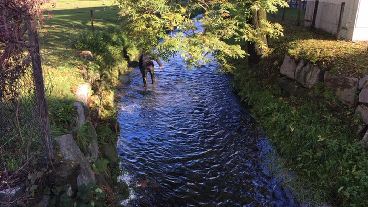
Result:
<svg viewBox="0 0 368 207">
<path fill-rule="evenodd" d="M 318 82 L 321 82 L 344 105 L 353 107 L 355 114 L 362 116 L 364 124 L 358 124 L 357 126 L 357 124 L 353 124 L 353 121 L 346 120 L 343 116 L 339 117 L 344 124 L 357 131 L 357 133 L 364 134 L 363 141 L 368 146 L 368 75 L 360 79 L 346 77 L 324 71 L 310 62 L 294 60 L 287 54 L 284 57 L 280 73 L 283 75 L 278 79 L 280 87 L 291 94 L 298 93 L 302 87 L 313 88 Z M 332 108 L 338 113 L 342 112 L 342 109 L 338 107 Z"/>
</svg>

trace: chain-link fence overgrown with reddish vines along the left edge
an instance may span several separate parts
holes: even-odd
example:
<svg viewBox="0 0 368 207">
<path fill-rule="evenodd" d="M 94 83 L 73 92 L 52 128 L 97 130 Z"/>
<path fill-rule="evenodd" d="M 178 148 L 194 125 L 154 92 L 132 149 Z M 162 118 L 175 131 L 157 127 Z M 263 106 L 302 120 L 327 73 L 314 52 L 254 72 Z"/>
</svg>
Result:
<svg viewBox="0 0 368 207">
<path fill-rule="evenodd" d="M 33 8 L 20 1 L 0 3 L 0 206 L 16 206 L 29 194 L 27 178 L 45 166 L 45 155 L 47 161 L 52 157 L 49 87 Z"/>
</svg>

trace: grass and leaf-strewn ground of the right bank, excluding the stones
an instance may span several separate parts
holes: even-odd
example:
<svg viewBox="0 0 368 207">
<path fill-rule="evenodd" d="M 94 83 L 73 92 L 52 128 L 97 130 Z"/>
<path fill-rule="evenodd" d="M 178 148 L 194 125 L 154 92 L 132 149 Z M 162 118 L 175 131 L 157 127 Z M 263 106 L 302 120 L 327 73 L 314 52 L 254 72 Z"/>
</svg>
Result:
<svg viewBox="0 0 368 207">
<path fill-rule="evenodd" d="M 301 202 L 367 206 L 368 155 L 359 135 L 336 119 L 323 101 L 333 95 L 323 87 L 314 88 L 314 98 L 308 90 L 289 95 L 277 84 L 286 53 L 361 77 L 367 74 L 366 60 L 360 56 L 366 53 L 366 43 L 336 41 L 325 32 L 297 27 L 296 9 L 287 9 L 283 22 L 281 14 L 269 18 L 283 25 L 284 36 L 270 40 L 270 49 L 258 65 L 249 68 L 244 66 L 246 60 L 234 62 L 234 88 L 252 106 L 252 116 L 273 141 L 284 166 L 296 173 L 291 186 Z M 348 61 L 357 63 L 354 70 Z"/>
</svg>

